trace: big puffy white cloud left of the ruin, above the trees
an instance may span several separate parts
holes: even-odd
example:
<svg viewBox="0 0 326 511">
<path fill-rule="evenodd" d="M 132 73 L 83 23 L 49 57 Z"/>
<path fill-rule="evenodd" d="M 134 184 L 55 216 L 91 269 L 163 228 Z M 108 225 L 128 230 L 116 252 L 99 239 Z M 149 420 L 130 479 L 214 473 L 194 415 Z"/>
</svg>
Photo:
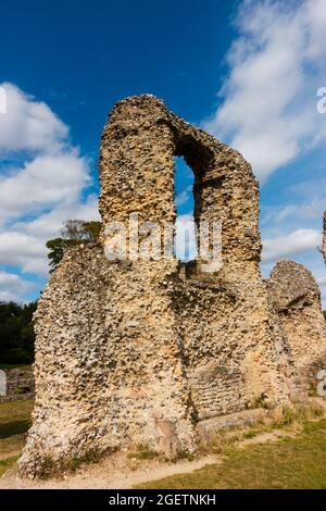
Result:
<svg viewBox="0 0 326 511">
<path fill-rule="evenodd" d="M 84 198 L 91 182 L 89 161 L 47 104 L 13 84 L 1 87 L 8 104 L 0 117 L 0 159 L 21 164 L 0 174 L 0 264 L 47 276 L 46 241 L 60 236 L 63 221 L 99 219 L 97 197 Z M 8 275 L 2 272 L 0 298 L 20 299 L 30 289 Z"/>
</svg>

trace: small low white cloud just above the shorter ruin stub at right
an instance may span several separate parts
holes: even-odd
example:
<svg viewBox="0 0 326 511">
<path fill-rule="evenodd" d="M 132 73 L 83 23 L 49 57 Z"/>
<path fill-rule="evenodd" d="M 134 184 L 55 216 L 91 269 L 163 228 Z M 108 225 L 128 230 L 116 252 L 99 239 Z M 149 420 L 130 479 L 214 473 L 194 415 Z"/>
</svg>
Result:
<svg viewBox="0 0 326 511">
<path fill-rule="evenodd" d="M 264 239 L 262 261 L 266 263 L 310 250 L 317 251 L 321 244 L 322 234 L 318 230 L 297 229 L 287 236 Z"/>
</svg>

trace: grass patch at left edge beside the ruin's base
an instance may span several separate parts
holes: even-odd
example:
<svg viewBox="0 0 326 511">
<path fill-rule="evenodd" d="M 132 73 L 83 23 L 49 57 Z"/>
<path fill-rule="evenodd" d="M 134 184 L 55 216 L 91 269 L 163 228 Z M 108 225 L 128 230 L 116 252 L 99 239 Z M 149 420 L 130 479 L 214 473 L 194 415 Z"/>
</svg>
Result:
<svg viewBox="0 0 326 511">
<path fill-rule="evenodd" d="M 33 407 L 33 400 L 0 403 L 0 476 L 20 456 L 32 425 Z"/>
</svg>

